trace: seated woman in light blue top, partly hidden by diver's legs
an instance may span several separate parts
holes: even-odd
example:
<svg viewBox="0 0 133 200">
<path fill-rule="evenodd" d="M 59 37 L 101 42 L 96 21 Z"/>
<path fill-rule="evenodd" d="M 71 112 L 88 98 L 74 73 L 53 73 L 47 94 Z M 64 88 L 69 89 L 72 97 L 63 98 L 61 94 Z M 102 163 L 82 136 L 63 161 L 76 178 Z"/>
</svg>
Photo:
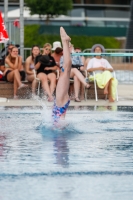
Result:
<svg viewBox="0 0 133 200">
<path fill-rule="evenodd" d="M 74 52 L 73 45 L 69 43 L 69 51 L 70 53 Z M 63 56 L 60 59 L 60 67 L 63 67 Z M 90 88 L 90 85 L 86 83 L 85 77 L 83 74 L 80 72 L 83 68 L 83 63 L 81 61 L 81 57 L 79 55 L 77 56 L 72 56 L 71 55 L 71 62 L 72 62 L 72 67 L 71 67 L 71 73 L 70 73 L 70 78 L 74 79 L 74 93 L 75 93 L 75 102 L 81 102 L 79 99 L 79 91 L 80 91 L 80 85 L 81 83 L 86 87 Z"/>
</svg>

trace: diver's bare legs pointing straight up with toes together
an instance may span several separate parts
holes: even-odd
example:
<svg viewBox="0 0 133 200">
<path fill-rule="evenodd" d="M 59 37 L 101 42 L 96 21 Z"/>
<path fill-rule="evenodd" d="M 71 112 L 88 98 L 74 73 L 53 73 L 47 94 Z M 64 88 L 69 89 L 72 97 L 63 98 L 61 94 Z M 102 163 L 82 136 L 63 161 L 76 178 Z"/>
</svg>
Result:
<svg viewBox="0 0 133 200">
<path fill-rule="evenodd" d="M 69 42 L 71 38 L 66 34 L 63 27 L 60 28 L 60 37 L 63 46 L 63 68 L 59 77 L 56 87 L 56 105 L 62 107 L 69 99 L 68 90 L 70 84 L 70 72 L 71 72 L 71 56 L 69 51 Z"/>
</svg>

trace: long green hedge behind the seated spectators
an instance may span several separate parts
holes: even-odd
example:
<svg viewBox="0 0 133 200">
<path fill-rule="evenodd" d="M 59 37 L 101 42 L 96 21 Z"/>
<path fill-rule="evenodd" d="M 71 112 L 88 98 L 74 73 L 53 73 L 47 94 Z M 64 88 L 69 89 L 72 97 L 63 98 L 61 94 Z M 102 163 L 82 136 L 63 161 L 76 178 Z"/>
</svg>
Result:
<svg viewBox="0 0 133 200">
<path fill-rule="evenodd" d="M 25 26 L 25 47 L 32 47 L 33 45 L 39 45 L 43 47 L 43 45 L 47 42 L 53 43 L 55 41 L 60 41 L 59 35 L 45 35 L 39 34 L 39 25 L 26 25 Z M 121 43 L 115 39 L 114 37 L 102 37 L 102 36 L 76 36 L 72 35 L 72 44 L 75 47 L 80 47 L 82 50 L 86 48 L 91 48 L 94 44 L 100 43 L 104 45 L 105 48 L 109 49 L 119 49 Z"/>
</svg>

